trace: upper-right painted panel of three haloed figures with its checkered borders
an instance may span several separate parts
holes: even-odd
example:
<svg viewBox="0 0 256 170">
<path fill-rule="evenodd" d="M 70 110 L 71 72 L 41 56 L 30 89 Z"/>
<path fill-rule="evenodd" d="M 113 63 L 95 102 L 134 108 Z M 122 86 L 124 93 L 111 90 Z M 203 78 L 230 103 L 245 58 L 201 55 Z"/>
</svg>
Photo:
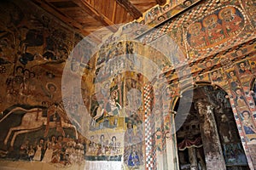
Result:
<svg viewBox="0 0 256 170">
<path fill-rule="evenodd" d="M 239 42 L 244 42 L 247 39 L 245 37 L 253 33 L 253 26 L 248 22 L 247 17 L 245 17 L 245 11 L 242 10 L 243 7 L 238 1 L 229 3 L 212 1 L 210 6 L 205 6 L 202 2 L 201 5 L 199 6 L 200 8 L 195 9 L 194 13 L 188 12 L 188 14 L 183 14 L 178 19 L 172 20 L 172 22 L 167 21 L 160 26 L 158 31 L 149 31 L 147 36 L 142 38 L 142 41 L 144 43 L 154 42 L 155 39 L 166 33 L 172 34 L 177 30 L 178 26 L 183 25 L 185 37 L 183 40 L 179 38 L 177 43 L 180 44 L 180 48 L 183 48 L 189 54 L 189 60 L 193 61 L 201 58 L 201 56 L 208 56 L 217 51 L 220 52 L 221 48 L 224 50 L 228 46 L 233 47 L 236 45 L 236 41 L 227 43 L 228 39 L 235 39 L 236 37 L 240 39 Z M 207 10 L 204 10 L 204 8 L 207 8 Z M 207 12 L 209 10 L 211 14 Z M 187 22 L 184 18 L 193 21 Z M 227 23 L 232 28 L 225 27 Z M 234 23 L 237 23 L 237 25 Z M 156 34 L 156 32 L 158 33 Z M 220 37 L 220 39 L 215 39 L 216 37 Z M 196 47 L 197 45 L 199 46 Z"/>
</svg>

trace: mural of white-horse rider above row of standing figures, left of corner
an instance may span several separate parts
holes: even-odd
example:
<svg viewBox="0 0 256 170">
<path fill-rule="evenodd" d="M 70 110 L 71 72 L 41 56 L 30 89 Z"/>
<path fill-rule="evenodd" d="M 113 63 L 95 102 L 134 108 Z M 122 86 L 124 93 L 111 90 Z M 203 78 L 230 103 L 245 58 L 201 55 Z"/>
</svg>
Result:
<svg viewBox="0 0 256 170">
<path fill-rule="evenodd" d="M 124 152 L 123 77 L 119 75 L 113 80 L 106 79 L 99 83 L 102 86 L 91 99 L 90 144 L 85 156 L 88 161 L 121 161 Z"/>
</svg>

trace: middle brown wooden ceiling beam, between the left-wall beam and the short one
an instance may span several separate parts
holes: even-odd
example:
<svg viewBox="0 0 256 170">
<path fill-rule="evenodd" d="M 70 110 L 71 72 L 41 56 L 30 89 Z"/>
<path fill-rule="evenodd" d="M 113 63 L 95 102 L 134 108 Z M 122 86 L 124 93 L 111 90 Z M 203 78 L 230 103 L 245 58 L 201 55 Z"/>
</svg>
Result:
<svg viewBox="0 0 256 170">
<path fill-rule="evenodd" d="M 109 20 L 104 14 L 96 10 L 96 8 L 92 7 L 90 3 L 85 0 L 73 0 L 73 3 L 76 3 L 81 7 L 84 12 L 91 14 L 96 20 L 102 22 L 102 25 L 108 26 L 108 29 L 111 31 L 117 31 L 118 27 L 114 26 L 114 23 Z"/>
</svg>

